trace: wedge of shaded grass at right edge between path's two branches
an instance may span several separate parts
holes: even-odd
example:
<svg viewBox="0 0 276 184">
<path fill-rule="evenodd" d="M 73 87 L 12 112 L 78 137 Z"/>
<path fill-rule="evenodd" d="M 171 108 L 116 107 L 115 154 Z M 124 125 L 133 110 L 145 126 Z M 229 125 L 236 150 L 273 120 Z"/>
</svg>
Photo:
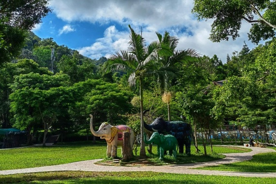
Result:
<svg viewBox="0 0 276 184">
<path fill-rule="evenodd" d="M 276 150 L 276 148 L 272 149 Z M 276 172 L 276 152 L 256 154 L 253 155 L 253 159 L 244 162 L 201 167 L 200 169 L 238 172 Z"/>
</svg>

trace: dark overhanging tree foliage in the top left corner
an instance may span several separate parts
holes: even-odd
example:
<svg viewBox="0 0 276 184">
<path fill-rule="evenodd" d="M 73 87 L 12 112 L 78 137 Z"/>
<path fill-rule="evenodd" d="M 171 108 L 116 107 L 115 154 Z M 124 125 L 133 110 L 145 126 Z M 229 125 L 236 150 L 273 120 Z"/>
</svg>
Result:
<svg viewBox="0 0 276 184">
<path fill-rule="evenodd" d="M 24 47 L 26 31 L 41 23 L 51 10 L 48 0 L 2 0 L 0 1 L 0 64 L 19 55 Z M 0 39 L 1 39 L 0 38 Z"/>
</svg>

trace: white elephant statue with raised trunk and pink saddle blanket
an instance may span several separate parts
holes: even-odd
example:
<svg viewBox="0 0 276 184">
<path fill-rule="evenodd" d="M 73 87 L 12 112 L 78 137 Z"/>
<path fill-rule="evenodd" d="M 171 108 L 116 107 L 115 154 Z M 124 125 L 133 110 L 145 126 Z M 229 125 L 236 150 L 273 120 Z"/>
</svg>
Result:
<svg viewBox="0 0 276 184">
<path fill-rule="evenodd" d="M 130 146 L 133 148 L 135 134 L 133 130 L 126 125 L 117 125 L 112 126 L 107 122 L 101 124 L 99 130 L 97 132 L 93 129 L 93 116 L 90 115 L 90 130 L 91 133 L 97 137 L 101 137 L 101 139 L 106 139 L 107 141 L 107 157 L 112 156 L 117 157 L 117 148 L 118 146 L 122 147 L 122 155 L 123 155 L 123 132 L 130 133 Z"/>
</svg>

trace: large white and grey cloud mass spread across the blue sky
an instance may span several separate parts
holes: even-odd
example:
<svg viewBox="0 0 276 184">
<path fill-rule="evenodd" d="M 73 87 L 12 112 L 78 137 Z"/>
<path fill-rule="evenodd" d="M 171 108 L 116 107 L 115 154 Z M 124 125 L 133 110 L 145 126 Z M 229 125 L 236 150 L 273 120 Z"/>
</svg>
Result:
<svg viewBox="0 0 276 184">
<path fill-rule="evenodd" d="M 53 13 L 66 22 L 85 21 L 108 25 L 115 21 L 123 27 L 130 24 L 137 33 L 142 26 L 143 37 L 148 43 L 157 39 L 156 31 L 162 34 L 169 31 L 179 38 L 177 49 L 192 48 L 210 57 L 216 54 L 223 62 L 228 53 L 241 50 L 244 41 L 249 48 L 254 47 L 247 41 L 246 33 L 250 26 L 247 24 L 242 26 L 240 38 L 228 42 L 211 42 L 208 37 L 212 21 L 197 21 L 191 13 L 192 0 L 105 0 L 104 3 L 99 0 L 51 0 L 50 6 Z M 66 33 L 65 28 L 60 33 Z M 128 40 L 128 33 L 119 32 L 115 26 L 110 26 L 104 37 L 79 51 L 92 58 L 109 56 L 115 51 L 126 50 Z"/>
</svg>

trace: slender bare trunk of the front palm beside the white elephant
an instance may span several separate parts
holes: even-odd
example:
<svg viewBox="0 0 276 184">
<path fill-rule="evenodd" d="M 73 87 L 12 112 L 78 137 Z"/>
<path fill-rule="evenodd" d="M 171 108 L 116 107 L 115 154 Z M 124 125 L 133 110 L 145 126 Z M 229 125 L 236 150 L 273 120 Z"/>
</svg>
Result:
<svg viewBox="0 0 276 184">
<path fill-rule="evenodd" d="M 144 142 L 144 107 L 143 107 L 143 85 L 142 85 L 142 79 L 139 78 L 140 82 L 140 113 L 141 113 L 141 143 L 140 143 L 140 157 L 146 157 L 146 150 L 145 150 L 145 142 Z"/>
</svg>

